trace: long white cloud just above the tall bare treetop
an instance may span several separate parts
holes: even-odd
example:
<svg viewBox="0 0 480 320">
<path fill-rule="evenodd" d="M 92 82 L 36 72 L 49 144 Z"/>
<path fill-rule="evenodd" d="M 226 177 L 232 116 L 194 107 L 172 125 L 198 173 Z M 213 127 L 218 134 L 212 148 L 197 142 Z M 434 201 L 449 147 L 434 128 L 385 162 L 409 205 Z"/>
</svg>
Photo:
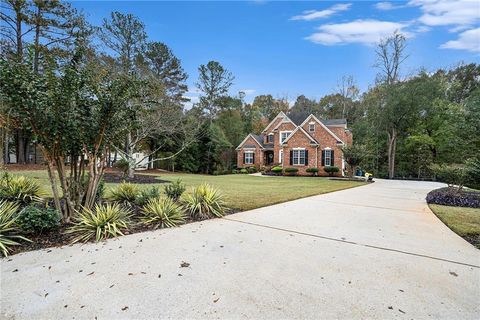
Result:
<svg viewBox="0 0 480 320">
<path fill-rule="evenodd" d="M 411 37 L 412 34 L 404 30 L 407 27 L 408 24 L 400 22 L 355 20 L 346 23 L 324 24 L 318 27 L 319 32 L 305 39 L 327 46 L 347 43 L 373 45 L 395 31 L 402 32 L 406 37 Z"/>
</svg>

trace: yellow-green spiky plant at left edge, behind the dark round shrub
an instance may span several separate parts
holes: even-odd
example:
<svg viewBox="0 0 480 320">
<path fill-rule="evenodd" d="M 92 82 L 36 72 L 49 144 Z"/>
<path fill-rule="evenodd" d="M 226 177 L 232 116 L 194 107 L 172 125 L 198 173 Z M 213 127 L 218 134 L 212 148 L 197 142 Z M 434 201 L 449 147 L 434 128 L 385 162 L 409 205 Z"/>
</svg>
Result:
<svg viewBox="0 0 480 320">
<path fill-rule="evenodd" d="M 31 178 L 8 173 L 0 178 L 0 200 L 28 204 L 42 201 L 42 195 L 40 186 Z"/>
</svg>

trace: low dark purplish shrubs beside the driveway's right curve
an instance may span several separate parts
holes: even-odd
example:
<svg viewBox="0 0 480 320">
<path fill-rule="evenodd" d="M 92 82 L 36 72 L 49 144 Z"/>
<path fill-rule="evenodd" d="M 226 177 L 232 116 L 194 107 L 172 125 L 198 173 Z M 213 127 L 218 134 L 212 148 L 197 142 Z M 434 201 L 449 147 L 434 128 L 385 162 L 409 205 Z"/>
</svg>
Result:
<svg viewBox="0 0 480 320">
<path fill-rule="evenodd" d="M 480 192 L 463 190 L 452 193 L 450 188 L 441 188 L 430 191 L 426 201 L 444 206 L 480 208 Z"/>
</svg>

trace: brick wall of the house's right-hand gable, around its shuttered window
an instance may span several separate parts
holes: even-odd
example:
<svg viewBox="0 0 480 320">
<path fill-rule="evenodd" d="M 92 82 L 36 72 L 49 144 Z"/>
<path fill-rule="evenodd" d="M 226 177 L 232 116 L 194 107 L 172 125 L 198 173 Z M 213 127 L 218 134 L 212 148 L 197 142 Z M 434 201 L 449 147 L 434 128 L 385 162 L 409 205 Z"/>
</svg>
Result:
<svg viewBox="0 0 480 320">
<path fill-rule="evenodd" d="M 308 124 L 310 121 L 303 126 L 303 129 L 307 131 L 318 143 L 319 151 L 318 151 L 318 174 L 322 176 L 328 176 L 327 173 L 323 170 L 322 166 L 322 152 L 321 150 L 325 149 L 326 147 L 330 147 L 333 150 L 333 161 L 334 166 L 338 167 L 340 171 L 338 172 L 338 176 L 342 175 L 342 149 L 341 146 L 337 145 L 337 140 L 327 131 L 323 126 L 321 126 L 318 122 L 315 121 L 315 132 L 308 131 Z M 342 128 L 341 128 L 342 129 Z M 343 129 L 342 129 L 343 130 Z M 339 138 L 342 138 L 339 136 Z"/>
</svg>

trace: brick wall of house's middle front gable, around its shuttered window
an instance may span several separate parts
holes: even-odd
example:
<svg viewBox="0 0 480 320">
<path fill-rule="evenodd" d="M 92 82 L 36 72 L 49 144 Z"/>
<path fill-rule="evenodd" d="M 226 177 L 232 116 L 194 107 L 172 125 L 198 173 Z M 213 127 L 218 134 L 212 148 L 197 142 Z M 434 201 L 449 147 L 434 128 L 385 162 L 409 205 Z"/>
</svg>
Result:
<svg viewBox="0 0 480 320">
<path fill-rule="evenodd" d="M 290 165 L 290 151 L 295 148 L 305 148 L 308 150 L 308 165 Z M 300 130 L 295 132 L 283 147 L 284 168 L 294 167 L 298 169 L 299 175 L 309 175 L 307 168 L 316 168 L 320 159 L 318 158 L 318 148 L 310 145 L 310 139 Z"/>
</svg>

